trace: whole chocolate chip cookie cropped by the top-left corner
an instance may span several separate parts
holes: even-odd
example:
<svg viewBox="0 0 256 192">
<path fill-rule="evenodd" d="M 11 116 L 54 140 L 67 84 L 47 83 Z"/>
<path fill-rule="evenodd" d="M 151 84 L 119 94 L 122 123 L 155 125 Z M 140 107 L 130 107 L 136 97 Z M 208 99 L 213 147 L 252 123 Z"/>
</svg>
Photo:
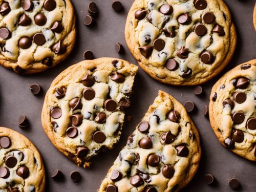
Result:
<svg viewBox="0 0 256 192">
<path fill-rule="evenodd" d="M 75 44 L 69 0 L 0 0 L 0 64 L 38 73 L 65 59 Z"/>
</svg>

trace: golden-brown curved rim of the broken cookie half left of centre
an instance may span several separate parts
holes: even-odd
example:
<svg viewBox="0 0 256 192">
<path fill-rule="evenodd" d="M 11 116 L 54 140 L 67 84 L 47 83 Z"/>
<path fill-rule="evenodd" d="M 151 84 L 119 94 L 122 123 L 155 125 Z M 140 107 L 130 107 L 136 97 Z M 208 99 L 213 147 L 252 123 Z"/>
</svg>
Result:
<svg viewBox="0 0 256 192">
<path fill-rule="evenodd" d="M 46 135 L 48 136 L 49 140 L 52 142 L 52 144 L 58 149 L 58 151 L 60 153 L 62 153 L 64 156 L 66 156 L 67 158 L 69 158 L 69 153 L 65 150 L 63 150 L 63 148 L 59 147 L 59 143 L 55 141 L 55 137 L 52 131 L 52 126 L 48 127 L 47 124 L 51 124 L 51 118 L 50 118 L 50 111 L 49 111 L 49 95 L 51 94 L 51 88 L 55 87 L 60 81 L 62 81 L 63 79 L 65 79 L 65 77 L 70 73 L 70 71 L 74 71 L 75 69 L 79 69 L 80 67 L 82 67 L 83 69 L 86 70 L 91 70 L 94 69 L 97 66 L 100 66 L 104 63 L 111 63 L 113 60 L 119 60 L 119 61 L 123 61 L 124 65 L 131 65 L 133 68 L 133 71 L 131 71 L 131 73 L 134 73 L 134 75 L 136 75 L 136 73 L 138 72 L 138 67 L 134 64 L 132 64 L 129 61 L 125 61 L 123 59 L 119 59 L 119 58 L 111 58 L 111 57 L 102 57 L 102 58 L 98 58 L 98 59 L 94 59 L 94 60 L 83 60 L 81 62 L 78 62 L 72 66 L 70 66 L 69 68 L 67 68 L 66 70 L 62 71 L 51 83 L 51 86 L 49 87 L 49 90 L 46 93 L 45 96 L 45 100 L 44 100 L 44 105 L 42 106 L 42 113 L 41 113 L 41 123 L 42 123 L 42 127 L 46 133 Z M 109 149 L 111 150 L 113 148 L 113 146 L 110 146 Z M 84 163 L 78 162 L 77 158 L 69 158 L 70 160 L 72 160 L 74 163 L 76 163 L 77 165 L 82 165 L 84 168 L 89 167 L 91 164 L 90 162 L 85 161 Z"/>
</svg>

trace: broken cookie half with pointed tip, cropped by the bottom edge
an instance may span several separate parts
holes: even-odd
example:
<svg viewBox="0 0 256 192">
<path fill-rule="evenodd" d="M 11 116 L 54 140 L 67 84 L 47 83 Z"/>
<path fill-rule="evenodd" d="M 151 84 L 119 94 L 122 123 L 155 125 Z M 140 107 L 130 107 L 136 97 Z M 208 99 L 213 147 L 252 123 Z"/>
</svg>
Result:
<svg viewBox="0 0 256 192">
<path fill-rule="evenodd" d="M 99 191 L 179 191 L 196 174 L 199 134 L 184 107 L 159 91 Z"/>
</svg>

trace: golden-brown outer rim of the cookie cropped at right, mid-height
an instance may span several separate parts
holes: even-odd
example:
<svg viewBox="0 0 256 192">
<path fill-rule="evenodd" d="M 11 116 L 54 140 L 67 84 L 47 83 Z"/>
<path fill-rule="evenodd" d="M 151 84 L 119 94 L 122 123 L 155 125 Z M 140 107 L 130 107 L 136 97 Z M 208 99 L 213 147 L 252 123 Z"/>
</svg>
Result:
<svg viewBox="0 0 256 192">
<path fill-rule="evenodd" d="M 236 67 L 234 67 L 233 69 L 231 69 L 230 71 L 228 71 L 227 73 L 225 73 L 214 85 L 214 87 L 212 87 L 211 89 L 211 93 L 210 93 L 210 102 L 209 102 L 209 119 L 210 119 L 210 125 L 212 127 L 212 130 L 214 131 L 216 137 L 218 138 L 218 140 L 220 141 L 220 143 L 224 146 L 224 147 L 227 147 L 225 145 L 225 139 L 221 132 L 219 131 L 219 127 L 218 127 L 218 123 L 216 122 L 216 119 L 215 117 L 217 117 L 218 115 L 215 114 L 215 102 L 212 101 L 212 95 L 218 91 L 218 88 L 220 88 L 221 84 L 223 84 L 223 79 L 226 79 L 230 74 L 236 72 L 237 70 L 241 70 L 241 66 L 242 65 L 245 65 L 247 63 L 250 63 L 251 65 L 253 66 L 256 66 L 256 59 L 253 59 L 253 60 L 250 60 L 250 61 L 247 61 L 247 62 L 244 62 Z M 238 74 L 239 76 L 239 74 Z M 248 155 L 248 153 L 246 153 L 246 155 L 242 155 L 240 153 L 240 150 L 236 150 L 236 148 L 234 149 L 230 149 L 230 151 L 232 151 L 233 153 L 245 158 L 245 159 L 248 159 L 250 161 L 255 161 L 256 162 L 256 157 L 253 158 L 252 155 Z M 251 153 L 249 153 L 251 154 Z"/>
</svg>

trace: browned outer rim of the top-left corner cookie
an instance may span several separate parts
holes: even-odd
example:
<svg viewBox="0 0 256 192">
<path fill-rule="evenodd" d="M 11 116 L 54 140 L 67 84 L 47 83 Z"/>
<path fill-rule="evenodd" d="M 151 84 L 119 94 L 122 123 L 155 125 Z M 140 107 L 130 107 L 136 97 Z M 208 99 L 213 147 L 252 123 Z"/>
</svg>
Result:
<svg viewBox="0 0 256 192">
<path fill-rule="evenodd" d="M 32 68 L 30 69 L 25 69 L 24 73 L 20 73 L 16 70 L 16 68 L 18 67 L 16 62 L 11 62 L 7 59 L 5 59 L 5 56 L 3 56 L 0 53 L 0 65 L 4 66 L 7 69 L 13 70 L 15 73 L 18 74 L 34 74 L 34 73 L 40 73 L 42 71 L 45 71 L 49 68 L 55 67 L 56 65 L 58 65 L 61 61 L 65 60 L 69 54 L 71 53 L 71 51 L 73 50 L 74 46 L 75 46 L 75 42 L 76 42 L 76 15 L 75 15 L 75 10 L 74 7 L 71 3 L 70 0 L 66 0 L 66 12 L 68 12 L 69 16 L 68 18 L 70 18 L 69 22 L 72 22 L 71 26 L 68 27 L 68 32 L 66 32 L 66 35 L 63 36 L 60 40 L 62 42 L 63 45 L 66 45 L 66 52 L 60 55 L 55 56 L 55 62 L 53 62 L 52 66 L 47 66 L 42 64 L 40 61 L 37 62 L 33 62 L 32 64 L 30 64 L 32 66 Z M 66 21 L 65 21 L 66 23 Z M 55 54 L 55 53 L 53 53 Z"/>
</svg>

